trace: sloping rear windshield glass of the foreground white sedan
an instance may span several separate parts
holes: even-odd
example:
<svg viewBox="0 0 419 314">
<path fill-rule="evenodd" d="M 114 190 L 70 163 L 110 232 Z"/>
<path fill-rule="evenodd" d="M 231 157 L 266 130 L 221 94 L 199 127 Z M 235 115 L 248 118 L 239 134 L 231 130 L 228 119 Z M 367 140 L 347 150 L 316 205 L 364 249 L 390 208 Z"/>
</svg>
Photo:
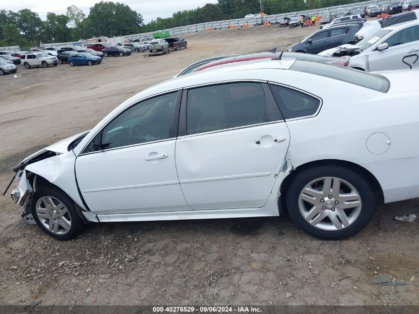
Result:
<svg viewBox="0 0 419 314">
<path fill-rule="evenodd" d="M 289 70 L 329 77 L 382 93 L 390 89 L 390 82 L 384 76 L 344 66 L 296 60 Z"/>
</svg>

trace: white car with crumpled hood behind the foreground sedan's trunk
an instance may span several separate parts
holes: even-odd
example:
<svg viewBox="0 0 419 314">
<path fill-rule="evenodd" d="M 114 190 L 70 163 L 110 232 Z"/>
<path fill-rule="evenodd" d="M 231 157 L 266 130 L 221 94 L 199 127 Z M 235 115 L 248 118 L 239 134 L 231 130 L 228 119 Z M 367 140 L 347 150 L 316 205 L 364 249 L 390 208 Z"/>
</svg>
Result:
<svg viewBox="0 0 419 314">
<path fill-rule="evenodd" d="M 419 20 L 385 27 L 356 45 L 342 45 L 318 55 L 350 56 L 348 66 L 363 71 L 419 68 Z"/>
</svg>

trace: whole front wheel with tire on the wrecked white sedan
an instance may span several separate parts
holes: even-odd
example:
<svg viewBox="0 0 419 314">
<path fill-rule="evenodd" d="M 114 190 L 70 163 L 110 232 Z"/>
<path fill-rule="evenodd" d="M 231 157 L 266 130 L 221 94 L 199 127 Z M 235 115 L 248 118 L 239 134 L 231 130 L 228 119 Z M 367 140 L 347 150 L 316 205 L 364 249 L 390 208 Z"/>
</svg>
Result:
<svg viewBox="0 0 419 314">
<path fill-rule="evenodd" d="M 55 187 L 37 189 L 31 199 L 31 212 L 38 226 L 58 240 L 71 240 L 83 229 L 74 201 Z"/>
</svg>

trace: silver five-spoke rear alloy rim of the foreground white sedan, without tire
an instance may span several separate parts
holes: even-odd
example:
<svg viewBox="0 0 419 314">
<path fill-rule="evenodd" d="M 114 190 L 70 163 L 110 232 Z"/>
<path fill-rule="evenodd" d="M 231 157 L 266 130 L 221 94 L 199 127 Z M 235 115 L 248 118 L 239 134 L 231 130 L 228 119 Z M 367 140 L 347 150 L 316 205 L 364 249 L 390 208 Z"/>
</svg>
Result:
<svg viewBox="0 0 419 314">
<path fill-rule="evenodd" d="M 361 197 L 349 182 L 323 177 L 311 181 L 301 190 L 299 211 L 313 227 L 340 230 L 357 220 L 361 211 Z"/>
</svg>

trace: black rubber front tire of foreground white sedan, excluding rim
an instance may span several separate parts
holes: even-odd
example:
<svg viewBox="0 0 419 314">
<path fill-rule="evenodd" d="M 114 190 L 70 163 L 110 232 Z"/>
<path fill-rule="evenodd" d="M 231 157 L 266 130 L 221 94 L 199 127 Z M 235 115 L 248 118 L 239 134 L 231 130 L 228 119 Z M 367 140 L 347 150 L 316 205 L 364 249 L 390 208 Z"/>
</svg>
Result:
<svg viewBox="0 0 419 314">
<path fill-rule="evenodd" d="M 42 196 L 52 196 L 60 200 L 68 210 L 68 213 L 71 217 L 71 228 L 66 234 L 57 235 L 49 231 L 40 221 L 38 216 L 36 215 L 36 202 Z M 81 221 L 80 217 L 77 215 L 76 207 L 74 201 L 64 192 L 62 192 L 58 188 L 48 187 L 48 188 L 40 188 L 37 189 L 31 198 L 31 213 L 33 218 L 35 219 L 38 226 L 49 236 L 58 239 L 58 240 L 71 240 L 74 239 L 77 235 L 80 234 L 83 228 L 83 222 Z"/>
</svg>

